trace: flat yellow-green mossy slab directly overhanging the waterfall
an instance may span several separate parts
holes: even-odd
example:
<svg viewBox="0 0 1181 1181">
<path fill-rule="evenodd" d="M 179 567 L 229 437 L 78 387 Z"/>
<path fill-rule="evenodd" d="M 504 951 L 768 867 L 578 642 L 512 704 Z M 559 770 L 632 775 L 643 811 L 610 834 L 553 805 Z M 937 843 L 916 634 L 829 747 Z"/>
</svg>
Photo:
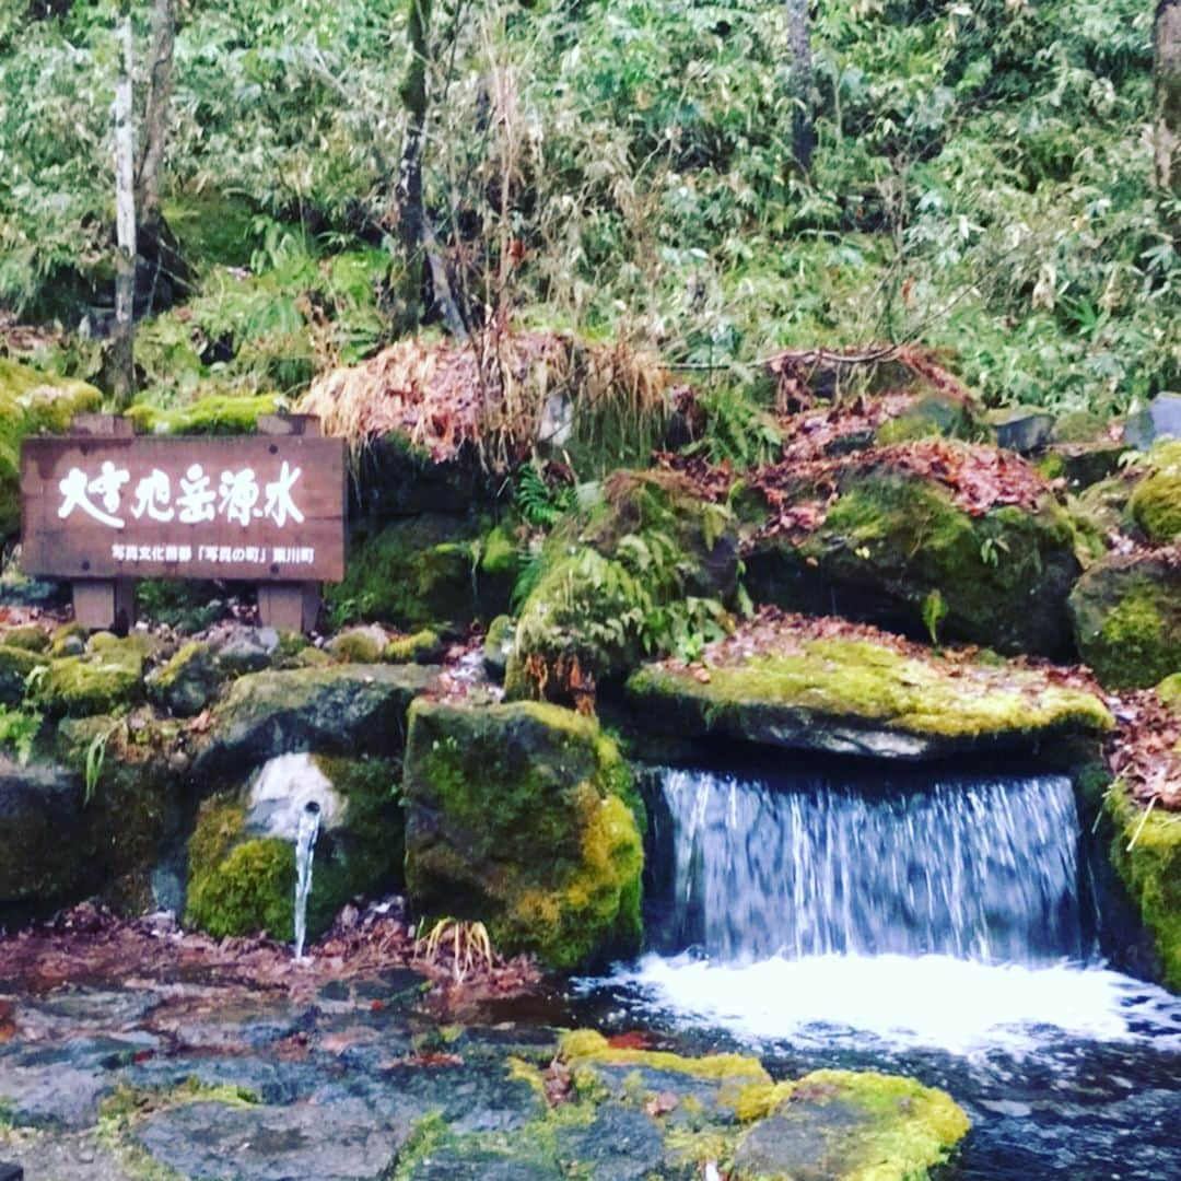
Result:
<svg viewBox="0 0 1181 1181">
<path fill-rule="evenodd" d="M 973 683 L 948 667 L 868 640 L 813 639 L 796 648 L 709 667 L 642 668 L 627 697 L 646 729 L 877 758 L 941 758 L 1033 749 L 1113 725 L 1090 693 L 1038 672 L 994 666 Z"/>
</svg>

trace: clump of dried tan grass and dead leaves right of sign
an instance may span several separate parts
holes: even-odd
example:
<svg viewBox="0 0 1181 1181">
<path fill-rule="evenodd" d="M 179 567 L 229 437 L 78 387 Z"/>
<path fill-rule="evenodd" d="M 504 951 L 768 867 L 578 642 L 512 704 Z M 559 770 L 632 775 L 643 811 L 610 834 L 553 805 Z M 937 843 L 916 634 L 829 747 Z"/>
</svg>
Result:
<svg viewBox="0 0 1181 1181">
<path fill-rule="evenodd" d="M 646 437 L 664 423 L 667 386 L 654 358 L 621 342 L 489 329 L 463 344 L 402 340 L 318 378 L 299 410 L 318 415 L 354 455 L 396 432 L 439 462 L 471 445 L 488 470 L 503 471 L 546 442 L 553 400 L 568 399 L 574 430 L 586 438 L 606 424 Z"/>
</svg>

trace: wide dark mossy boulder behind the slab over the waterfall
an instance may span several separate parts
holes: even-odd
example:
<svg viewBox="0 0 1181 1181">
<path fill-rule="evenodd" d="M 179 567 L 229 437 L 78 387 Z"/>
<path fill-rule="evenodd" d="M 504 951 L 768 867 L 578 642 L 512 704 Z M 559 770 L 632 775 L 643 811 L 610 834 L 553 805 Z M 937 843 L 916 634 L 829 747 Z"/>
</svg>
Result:
<svg viewBox="0 0 1181 1181">
<path fill-rule="evenodd" d="M 800 498 L 813 496 L 800 489 Z M 746 587 L 758 602 L 920 637 L 938 592 L 947 608 L 941 638 L 1063 657 L 1066 595 L 1081 569 L 1074 546 L 1071 522 L 1049 495 L 1036 511 L 1001 505 L 972 516 L 934 482 L 855 469 L 813 533 L 752 540 Z"/>
</svg>

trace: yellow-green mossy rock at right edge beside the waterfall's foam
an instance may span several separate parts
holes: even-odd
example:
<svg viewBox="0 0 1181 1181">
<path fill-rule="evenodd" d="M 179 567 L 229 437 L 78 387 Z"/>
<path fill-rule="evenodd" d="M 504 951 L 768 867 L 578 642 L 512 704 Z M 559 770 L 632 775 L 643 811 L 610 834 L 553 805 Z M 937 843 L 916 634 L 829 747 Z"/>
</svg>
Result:
<svg viewBox="0 0 1181 1181">
<path fill-rule="evenodd" d="M 1161 979 L 1181 993 L 1181 813 L 1146 815 L 1120 783 L 1104 807 L 1115 826 L 1111 863 L 1153 934 Z"/>
</svg>

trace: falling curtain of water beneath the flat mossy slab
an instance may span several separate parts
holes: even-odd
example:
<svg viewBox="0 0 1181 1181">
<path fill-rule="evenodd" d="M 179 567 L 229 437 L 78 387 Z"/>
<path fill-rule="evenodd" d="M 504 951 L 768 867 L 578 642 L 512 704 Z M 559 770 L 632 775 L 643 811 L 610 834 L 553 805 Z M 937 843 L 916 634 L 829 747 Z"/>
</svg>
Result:
<svg viewBox="0 0 1181 1181">
<path fill-rule="evenodd" d="M 947 777 L 921 790 L 690 770 L 660 778 L 668 941 L 713 963 L 940 954 L 1032 967 L 1087 957 L 1078 817 L 1063 776 Z"/>
</svg>

